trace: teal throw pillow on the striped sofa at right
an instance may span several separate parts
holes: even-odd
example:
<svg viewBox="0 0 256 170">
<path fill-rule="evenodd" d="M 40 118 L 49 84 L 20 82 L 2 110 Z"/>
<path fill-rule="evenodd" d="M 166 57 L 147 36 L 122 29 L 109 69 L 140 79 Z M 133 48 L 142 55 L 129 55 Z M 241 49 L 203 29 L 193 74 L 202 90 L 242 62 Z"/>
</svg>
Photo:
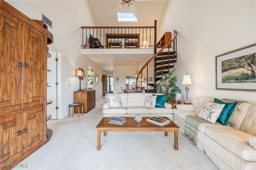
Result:
<svg viewBox="0 0 256 170">
<path fill-rule="evenodd" d="M 236 107 L 236 104 L 238 102 L 225 103 L 218 99 L 214 99 L 214 103 L 225 104 L 224 108 L 222 109 L 222 111 L 220 113 L 220 116 L 217 119 L 217 122 L 219 122 L 222 125 L 226 125 L 228 123 L 228 119 L 229 119 L 231 113 L 234 111 L 234 108 Z"/>
</svg>

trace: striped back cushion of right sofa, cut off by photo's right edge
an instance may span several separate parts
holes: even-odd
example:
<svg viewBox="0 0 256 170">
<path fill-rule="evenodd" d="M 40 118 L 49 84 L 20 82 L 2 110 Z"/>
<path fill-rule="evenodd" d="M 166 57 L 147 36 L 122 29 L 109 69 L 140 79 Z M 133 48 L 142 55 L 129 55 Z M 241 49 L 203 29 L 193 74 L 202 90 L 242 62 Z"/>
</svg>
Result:
<svg viewBox="0 0 256 170">
<path fill-rule="evenodd" d="M 240 130 L 256 136 L 256 105 L 249 105 L 244 120 L 241 123 Z"/>
</svg>

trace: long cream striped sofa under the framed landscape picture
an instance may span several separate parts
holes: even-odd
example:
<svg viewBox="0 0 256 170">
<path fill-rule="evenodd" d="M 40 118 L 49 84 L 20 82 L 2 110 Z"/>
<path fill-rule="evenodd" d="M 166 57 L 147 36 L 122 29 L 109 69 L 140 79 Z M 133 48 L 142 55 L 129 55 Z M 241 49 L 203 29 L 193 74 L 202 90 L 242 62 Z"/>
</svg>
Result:
<svg viewBox="0 0 256 170">
<path fill-rule="evenodd" d="M 221 101 L 226 103 L 235 102 L 235 100 L 230 99 L 222 99 Z M 173 121 L 180 127 L 183 134 L 184 131 L 186 134 L 186 128 L 188 127 L 186 117 L 200 119 L 198 113 L 207 102 L 214 102 L 214 97 L 196 96 L 192 105 L 176 105 L 176 109 L 173 109 Z M 238 101 L 227 125 L 221 125 L 218 122 L 212 124 L 207 121 L 198 124 L 195 145 L 218 168 L 256 170 L 256 137 L 251 137 L 256 136 L 255 104 Z M 252 143 L 249 145 L 249 138 L 250 140 L 254 139 L 254 147 L 250 146 Z"/>
</svg>

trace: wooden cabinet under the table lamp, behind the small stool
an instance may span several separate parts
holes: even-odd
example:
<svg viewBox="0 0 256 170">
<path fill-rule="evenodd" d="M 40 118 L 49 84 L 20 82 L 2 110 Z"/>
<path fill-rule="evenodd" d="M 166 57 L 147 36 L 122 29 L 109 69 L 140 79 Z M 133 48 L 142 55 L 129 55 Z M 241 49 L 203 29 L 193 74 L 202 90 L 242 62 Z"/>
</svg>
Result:
<svg viewBox="0 0 256 170">
<path fill-rule="evenodd" d="M 95 90 L 91 91 L 74 91 L 74 103 L 81 103 L 84 105 L 83 113 L 88 113 L 95 108 Z M 75 113 L 78 113 L 78 108 L 74 108 Z"/>
</svg>

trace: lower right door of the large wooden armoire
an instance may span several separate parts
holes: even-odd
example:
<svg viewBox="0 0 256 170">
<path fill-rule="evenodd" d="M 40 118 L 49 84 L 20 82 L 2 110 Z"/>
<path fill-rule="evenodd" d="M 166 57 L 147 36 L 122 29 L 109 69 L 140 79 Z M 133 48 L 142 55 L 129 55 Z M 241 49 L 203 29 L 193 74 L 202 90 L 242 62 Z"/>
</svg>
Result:
<svg viewBox="0 0 256 170">
<path fill-rule="evenodd" d="M 43 107 L 22 112 L 22 154 L 43 142 L 43 117 Z"/>
</svg>

